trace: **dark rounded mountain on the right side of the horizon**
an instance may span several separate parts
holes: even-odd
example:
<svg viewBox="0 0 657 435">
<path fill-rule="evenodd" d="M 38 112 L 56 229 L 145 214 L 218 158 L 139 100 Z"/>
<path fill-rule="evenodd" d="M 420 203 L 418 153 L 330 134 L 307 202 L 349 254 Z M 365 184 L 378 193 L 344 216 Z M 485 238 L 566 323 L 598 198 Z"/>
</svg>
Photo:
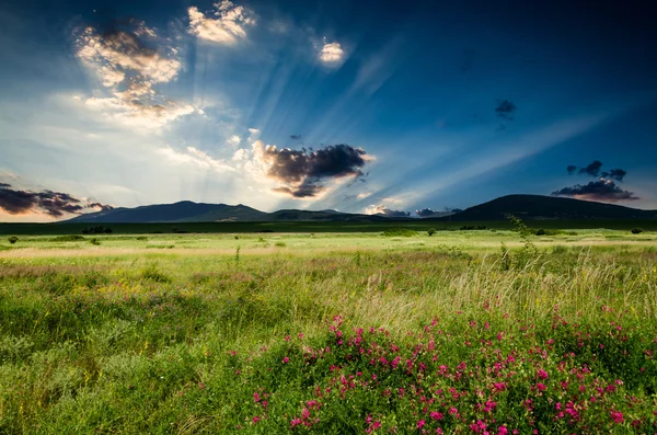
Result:
<svg viewBox="0 0 657 435">
<path fill-rule="evenodd" d="M 427 220 L 504 220 L 506 215 L 523 220 L 540 219 L 657 219 L 657 210 L 641 210 L 615 204 L 542 195 L 507 195 L 449 217 Z"/>
</svg>

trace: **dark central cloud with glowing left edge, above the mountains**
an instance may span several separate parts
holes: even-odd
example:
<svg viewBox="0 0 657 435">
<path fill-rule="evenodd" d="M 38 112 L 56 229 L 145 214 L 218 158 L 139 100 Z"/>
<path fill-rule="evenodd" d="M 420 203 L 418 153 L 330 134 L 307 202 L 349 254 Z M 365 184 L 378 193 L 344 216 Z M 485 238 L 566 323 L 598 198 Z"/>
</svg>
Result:
<svg viewBox="0 0 657 435">
<path fill-rule="evenodd" d="M 267 176 L 278 180 L 284 186 L 275 191 L 296 198 L 316 196 L 324 190 L 322 181 L 353 176 L 367 176 L 361 168 L 369 160 L 362 148 L 350 145 L 331 145 L 318 150 L 277 149 L 261 146 L 261 158 L 269 164 Z"/>
</svg>

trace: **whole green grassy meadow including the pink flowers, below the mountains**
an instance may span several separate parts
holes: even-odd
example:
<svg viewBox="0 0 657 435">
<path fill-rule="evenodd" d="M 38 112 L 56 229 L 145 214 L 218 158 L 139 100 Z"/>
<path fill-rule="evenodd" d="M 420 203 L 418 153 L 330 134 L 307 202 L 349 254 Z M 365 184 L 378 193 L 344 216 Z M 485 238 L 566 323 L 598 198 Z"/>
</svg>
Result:
<svg viewBox="0 0 657 435">
<path fill-rule="evenodd" d="M 11 233 L 0 434 L 657 432 L 655 232 Z"/>
</svg>

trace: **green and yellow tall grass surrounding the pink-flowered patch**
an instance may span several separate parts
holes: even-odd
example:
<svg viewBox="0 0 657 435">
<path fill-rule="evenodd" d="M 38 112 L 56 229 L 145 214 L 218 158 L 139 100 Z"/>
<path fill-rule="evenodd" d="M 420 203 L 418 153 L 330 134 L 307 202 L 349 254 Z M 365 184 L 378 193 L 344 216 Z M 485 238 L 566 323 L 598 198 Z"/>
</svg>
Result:
<svg viewBox="0 0 657 435">
<path fill-rule="evenodd" d="M 511 255 L 517 259 L 522 251 Z M 461 359 L 480 360 L 477 352 L 488 352 L 488 345 L 480 350 L 464 346 L 465 341 L 515 335 L 515 342 L 499 344 L 499 352 L 533 360 L 527 352 L 545 350 L 544 343 L 555 340 L 549 360 L 540 363 L 553 377 L 562 355 L 575 350 L 577 356 L 568 363 L 574 369 L 587 365 L 598 379 L 621 380 L 627 394 L 643 401 L 636 410 L 646 413 L 655 393 L 655 382 L 643 375 L 657 376 L 648 358 L 657 352 L 650 343 L 657 335 L 657 268 L 649 252 L 558 249 L 508 267 L 498 254 L 473 256 L 443 248 L 119 255 L 44 263 L 5 260 L 0 268 L 0 433 L 362 433 L 372 430 L 379 414 L 388 419 L 380 424 L 389 431 L 422 432 L 418 421 L 430 419 L 423 417 L 419 402 L 397 398 L 383 403 L 380 397 L 387 388 L 426 388 L 424 378 L 388 368 L 374 371 L 360 359 L 347 358 L 351 351 L 341 353 L 336 330 L 330 329 L 336 316 L 345 341 L 356 336 L 353 328 L 382 329 L 384 337 L 362 335 L 368 348 L 395 343 L 408 358 L 414 346 L 426 345 L 427 325 L 437 323 L 451 334 L 451 341 L 436 335 L 439 357 L 450 367 Z M 492 327 L 476 332 L 472 322 Z M 623 325 L 625 341 L 615 340 L 614 324 Z M 608 354 L 596 352 L 602 344 Z M 331 356 L 316 356 L 325 347 L 334 350 Z M 308 352 L 315 355 L 312 364 Z M 291 364 L 283 363 L 284 357 L 292 358 Z M 331 364 L 367 370 L 388 384 L 359 385 L 344 398 L 313 399 L 313 389 L 328 388 L 335 377 Z M 485 368 L 493 360 L 477 364 Z M 475 394 L 484 388 L 482 379 L 453 385 Z M 441 381 L 452 379 L 436 378 Z M 514 391 L 534 398 L 533 390 L 523 388 Z M 268 410 L 254 402 L 254 392 L 268 394 Z M 498 421 L 510 415 L 517 427 L 529 428 L 510 396 L 492 394 L 500 403 L 508 400 Z M 344 408 L 345 398 L 351 408 Z M 324 408 L 300 404 L 310 400 Z M 391 403 L 397 408 L 384 412 Z M 613 403 L 626 408 L 624 399 Z M 462 407 L 465 415 L 470 404 Z M 302 417 L 302 409 L 311 416 Z M 471 420 L 480 415 L 472 410 Z M 608 408 L 600 412 L 606 413 L 606 431 L 634 431 L 630 422 L 613 426 Z M 313 415 L 322 423 L 315 424 Z M 541 415 L 546 420 L 534 415 L 537 425 L 554 417 L 548 410 Z M 472 432 L 476 419 L 440 424 L 446 431 Z M 602 427 L 596 424 L 564 423 L 555 432 L 579 427 L 595 433 Z M 642 431 L 650 424 L 642 421 Z"/>
</svg>

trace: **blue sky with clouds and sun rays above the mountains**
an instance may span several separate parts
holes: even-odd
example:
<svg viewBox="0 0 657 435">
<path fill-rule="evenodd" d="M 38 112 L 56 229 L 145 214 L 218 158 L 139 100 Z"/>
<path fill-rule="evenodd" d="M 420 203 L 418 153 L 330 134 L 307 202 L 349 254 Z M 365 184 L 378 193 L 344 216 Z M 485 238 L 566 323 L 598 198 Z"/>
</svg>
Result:
<svg viewBox="0 0 657 435">
<path fill-rule="evenodd" d="M 0 221 L 178 201 L 657 208 L 647 3 L 4 1 Z"/>
</svg>

